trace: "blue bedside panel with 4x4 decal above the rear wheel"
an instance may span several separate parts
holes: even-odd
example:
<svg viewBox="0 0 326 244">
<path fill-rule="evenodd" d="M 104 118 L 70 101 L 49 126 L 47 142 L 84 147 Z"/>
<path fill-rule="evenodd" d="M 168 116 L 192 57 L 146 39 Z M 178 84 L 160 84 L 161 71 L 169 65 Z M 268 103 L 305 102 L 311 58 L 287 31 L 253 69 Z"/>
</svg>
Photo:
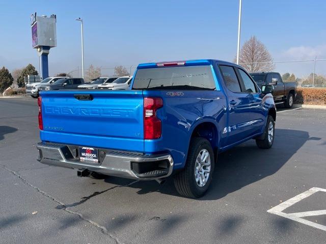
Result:
<svg viewBox="0 0 326 244">
<path fill-rule="evenodd" d="M 178 92 L 179 96 L 173 95 Z M 210 122 L 222 135 L 226 125 L 226 98 L 220 91 L 210 90 L 144 90 L 144 97 L 160 97 L 164 107 L 157 116 L 162 121 L 162 136 L 157 140 L 145 140 L 145 153 L 169 151 L 175 161 L 174 168 L 182 168 L 188 153 L 194 129 L 201 123 Z M 220 98 L 206 100 L 207 98 Z M 206 98 L 200 99 L 200 98 Z M 223 125 L 223 126 L 221 126 Z M 221 138 L 215 141 L 217 146 Z"/>
</svg>

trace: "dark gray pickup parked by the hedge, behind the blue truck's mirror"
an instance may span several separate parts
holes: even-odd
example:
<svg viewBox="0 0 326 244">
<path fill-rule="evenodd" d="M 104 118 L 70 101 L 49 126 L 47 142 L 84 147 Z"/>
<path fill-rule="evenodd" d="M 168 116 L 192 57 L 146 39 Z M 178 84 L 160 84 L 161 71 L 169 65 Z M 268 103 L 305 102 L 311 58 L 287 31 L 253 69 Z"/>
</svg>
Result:
<svg viewBox="0 0 326 244">
<path fill-rule="evenodd" d="M 266 84 L 274 85 L 275 104 L 283 103 L 286 108 L 291 108 L 296 97 L 296 83 L 283 82 L 280 73 L 250 73 L 259 87 Z"/>
</svg>

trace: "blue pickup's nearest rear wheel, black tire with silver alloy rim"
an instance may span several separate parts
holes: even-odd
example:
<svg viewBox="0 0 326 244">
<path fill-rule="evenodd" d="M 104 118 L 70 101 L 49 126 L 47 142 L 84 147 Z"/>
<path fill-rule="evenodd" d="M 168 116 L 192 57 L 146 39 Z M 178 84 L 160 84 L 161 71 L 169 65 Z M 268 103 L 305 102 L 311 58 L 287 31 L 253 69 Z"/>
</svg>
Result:
<svg viewBox="0 0 326 244">
<path fill-rule="evenodd" d="M 209 141 L 201 137 L 193 138 L 185 168 L 174 177 L 177 192 L 189 198 L 203 196 L 211 183 L 213 170 L 214 153 Z"/>
</svg>

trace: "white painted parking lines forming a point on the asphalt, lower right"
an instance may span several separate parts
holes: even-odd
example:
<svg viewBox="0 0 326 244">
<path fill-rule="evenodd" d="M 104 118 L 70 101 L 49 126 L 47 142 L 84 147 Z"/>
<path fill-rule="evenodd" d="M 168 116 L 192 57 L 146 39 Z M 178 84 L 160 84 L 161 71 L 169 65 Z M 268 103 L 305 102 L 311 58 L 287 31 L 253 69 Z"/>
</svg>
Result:
<svg viewBox="0 0 326 244">
<path fill-rule="evenodd" d="M 284 209 L 311 196 L 312 194 L 314 194 L 316 192 L 326 192 L 326 189 L 313 187 L 313 188 L 309 189 L 308 191 L 305 191 L 295 197 L 292 197 L 291 199 L 289 199 L 285 202 L 282 202 L 281 204 L 279 204 L 273 208 L 270 208 L 269 210 L 267 210 L 267 212 L 269 212 L 270 214 L 282 216 L 284 218 L 287 218 L 287 219 L 290 219 L 290 220 L 293 220 L 293 221 L 326 231 L 326 226 L 311 222 L 309 220 L 302 219 L 302 217 L 326 215 L 326 209 L 316 210 L 316 211 L 306 211 L 306 212 L 292 212 L 291 214 L 286 214 L 285 212 L 283 212 Z"/>
</svg>

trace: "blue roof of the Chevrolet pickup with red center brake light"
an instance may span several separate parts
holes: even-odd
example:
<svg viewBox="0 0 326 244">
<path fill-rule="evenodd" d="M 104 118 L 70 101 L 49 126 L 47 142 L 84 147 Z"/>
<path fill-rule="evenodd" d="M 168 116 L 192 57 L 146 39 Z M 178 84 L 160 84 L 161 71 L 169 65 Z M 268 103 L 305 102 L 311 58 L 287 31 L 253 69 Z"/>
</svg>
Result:
<svg viewBox="0 0 326 244">
<path fill-rule="evenodd" d="M 148 68 L 157 68 L 160 66 L 198 66 L 198 65 L 212 65 L 214 62 L 220 62 L 225 64 L 230 64 L 237 66 L 231 62 L 218 60 L 218 59 L 190 59 L 182 61 L 170 61 L 170 62 L 158 62 L 158 63 L 143 63 L 138 65 L 138 69 L 148 69 Z M 240 66 L 239 66 L 240 67 Z"/>
</svg>

